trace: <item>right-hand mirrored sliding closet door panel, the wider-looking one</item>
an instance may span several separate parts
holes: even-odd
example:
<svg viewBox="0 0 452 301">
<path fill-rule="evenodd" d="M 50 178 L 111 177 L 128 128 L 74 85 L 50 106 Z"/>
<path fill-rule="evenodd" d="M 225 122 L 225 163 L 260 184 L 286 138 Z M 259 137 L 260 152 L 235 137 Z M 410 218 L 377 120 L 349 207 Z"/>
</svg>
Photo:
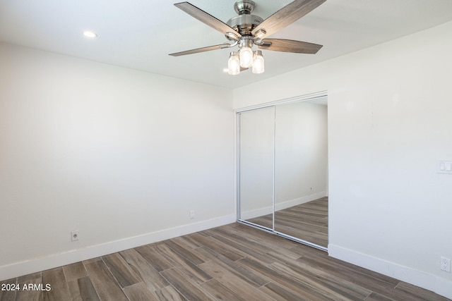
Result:
<svg viewBox="0 0 452 301">
<path fill-rule="evenodd" d="M 324 101 L 275 111 L 275 231 L 328 246 L 328 131 Z"/>
</svg>

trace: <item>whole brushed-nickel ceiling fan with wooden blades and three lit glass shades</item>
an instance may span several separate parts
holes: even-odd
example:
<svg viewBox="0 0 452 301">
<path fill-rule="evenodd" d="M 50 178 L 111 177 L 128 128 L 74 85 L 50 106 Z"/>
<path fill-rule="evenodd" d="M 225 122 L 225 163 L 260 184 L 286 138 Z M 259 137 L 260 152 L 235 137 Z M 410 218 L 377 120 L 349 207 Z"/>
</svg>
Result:
<svg viewBox="0 0 452 301">
<path fill-rule="evenodd" d="M 182 9 L 182 11 L 188 13 L 190 16 L 213 27 L 213 29 L 222 32 L 228 39 L 228 42 L 176 52 L 169 55 L 184 56 L 186 54 L 197 54 L 204 51 L 238 46 L 238 53 L 236 51 L 230 53 L 227 64 L 228 73 L 237 75 L 241 70 L 246 70 L 251 67 L 253 73 L 263 73 L 262 51 L 252 51 L 254 45 L 259 49 L 295 52 L 298 54 L 316 54 L 317 51 L 321 49 L 322 45 L 319 44 L 295 41 L 292 39 L 268 39 L 266 37 L 273 35 L 287 25 L 294 23 L 325 1 L 326 0 L 295 0 L 276 13 L 273 13 L 273 15 L 266 18 L 266 20 L 263 20 L 261 17 L 251 14 L 256 6 L 254 1 L 238 0 L 234 4 L 234 11 L 236 11 L 239 16 L 231 18 L 227 23 L 223 23 L 214 16 L 202 11 L 200 8 L 189 4 L 189 2 L 174 4 L 174 6 Z"/>
</svg>

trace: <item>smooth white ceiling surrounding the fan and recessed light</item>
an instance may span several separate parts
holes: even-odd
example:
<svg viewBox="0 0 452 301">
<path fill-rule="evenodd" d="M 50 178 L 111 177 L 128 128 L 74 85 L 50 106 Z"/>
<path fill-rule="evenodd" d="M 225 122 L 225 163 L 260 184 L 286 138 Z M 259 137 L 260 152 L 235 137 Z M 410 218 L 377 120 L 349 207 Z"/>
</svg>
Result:
<svg viewBox="0 0 452 301">
<path fill-rule="evenodd" d="M 268 18 L 290 0 L 254 0 Z M 0 41 L 151 73 L 240 87 L 452 20 L 452 0 L 327 0 L 273 36 L 322 44 L 317 54 L 263 51 L 266 72 L 227 75 L 231 49 L 168 54 L 226 42 L 168 0 L 1 0 Z M 227 22 L 234 0 L 190 0 Z M 97 39 L 83 37 L 97 32 Z"/>
</svg>

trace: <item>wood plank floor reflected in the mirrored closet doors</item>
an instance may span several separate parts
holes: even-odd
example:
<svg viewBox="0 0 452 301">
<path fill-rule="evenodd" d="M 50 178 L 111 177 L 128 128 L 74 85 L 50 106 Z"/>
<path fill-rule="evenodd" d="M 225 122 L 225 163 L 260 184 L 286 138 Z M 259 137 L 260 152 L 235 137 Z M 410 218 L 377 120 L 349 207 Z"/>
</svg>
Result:
<svg viewBox="0 0 452 301">
<path fill-rule="evenodd" d="M 267 214 L 249 221 L 271 228 L 272 219 Z M 276 211 L 275 231 L 328 247 L 328 197 Z"/>
</svg>

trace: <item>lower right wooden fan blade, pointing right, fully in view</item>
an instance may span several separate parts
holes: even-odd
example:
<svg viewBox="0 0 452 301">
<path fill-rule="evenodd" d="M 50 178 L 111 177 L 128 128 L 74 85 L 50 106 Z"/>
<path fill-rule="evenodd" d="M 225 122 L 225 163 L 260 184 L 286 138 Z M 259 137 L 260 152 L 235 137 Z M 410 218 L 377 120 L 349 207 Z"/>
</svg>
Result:
<svg viewBox="0 0 452 301">
<path fill-rule="evenodd" d="M 323 46 L 293 39 L 263 39 L 260 49 L 273 51 L 295 52 L 297 54 L 316 54 Z"/>
</svg>

